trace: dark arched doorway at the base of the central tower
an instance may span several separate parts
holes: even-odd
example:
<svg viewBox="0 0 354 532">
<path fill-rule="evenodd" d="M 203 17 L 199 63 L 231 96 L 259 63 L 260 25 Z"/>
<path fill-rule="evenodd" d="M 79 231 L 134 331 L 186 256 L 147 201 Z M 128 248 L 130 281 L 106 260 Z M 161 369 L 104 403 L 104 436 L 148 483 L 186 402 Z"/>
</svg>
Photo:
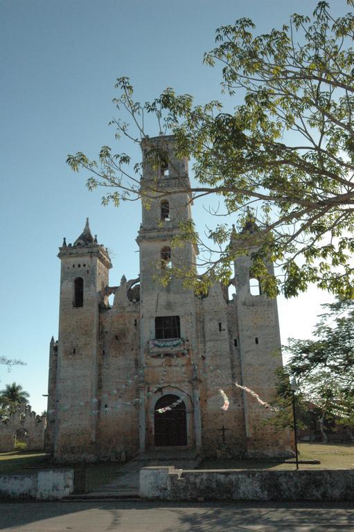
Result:
<svg viewBox="0 0 354 532">
<path fill-rule="evenodd" d="M 154 444 L 155 447 L 174 447 L 187 445 L 186 405 L 184 401 L 171 410 L 159 414 L 158 409 L 168 407 L 179 399 L 169 393 L 159 398 L 154 411 Z"/>
</svg>

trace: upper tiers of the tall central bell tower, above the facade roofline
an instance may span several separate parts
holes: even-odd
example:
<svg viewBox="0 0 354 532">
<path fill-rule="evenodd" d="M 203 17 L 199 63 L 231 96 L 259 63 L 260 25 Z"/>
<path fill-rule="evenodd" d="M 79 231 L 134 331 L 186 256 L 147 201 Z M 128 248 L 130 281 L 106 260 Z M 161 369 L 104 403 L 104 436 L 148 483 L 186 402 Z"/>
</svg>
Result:
<svg viewBox="0 0 354 532">
<path fill-rule="evenodd" d="M 179 233 L 179 224 L 191 220 L 192 197 L 188 178 L 188 159 L 177 159 L 172 136 L 158 136 L 143 141 L 143 177 L 141 189 L 143 217 L 139 231 L 141 288 L 145 294 L 159 288 L 154 279 L 159 269 L 194 267 L 197 249 L 192 244 L 171 248 Z M 179 192 L 179 190 L 181 190 Z M 181 285 L 178 279 L 172 280 Z M 159 290 L 158 290 L 159 291 Z"/>
</svg>

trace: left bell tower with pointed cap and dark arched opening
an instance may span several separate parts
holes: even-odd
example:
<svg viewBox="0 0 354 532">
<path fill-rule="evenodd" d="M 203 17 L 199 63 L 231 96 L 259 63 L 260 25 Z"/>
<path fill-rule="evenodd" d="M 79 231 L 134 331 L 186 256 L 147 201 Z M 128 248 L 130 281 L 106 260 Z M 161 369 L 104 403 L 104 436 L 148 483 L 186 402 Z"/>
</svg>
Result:
<svg viewBox="0 0 354 532">
<path fill-rule="evenodd" d="M 91 235 L 89 220 L 73 245 L 64 238 L 57 344 L 54 456 L 95 457 L 99 306 L 112 267 L 107 250 Z"/>
</svg>

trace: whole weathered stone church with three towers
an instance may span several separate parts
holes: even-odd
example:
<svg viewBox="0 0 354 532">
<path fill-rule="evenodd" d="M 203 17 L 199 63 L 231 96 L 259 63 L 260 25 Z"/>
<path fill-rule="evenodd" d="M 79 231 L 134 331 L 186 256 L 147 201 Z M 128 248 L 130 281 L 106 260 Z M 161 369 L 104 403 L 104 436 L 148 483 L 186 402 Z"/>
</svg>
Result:
<svg viewBox="0 0 354 532">
<path fill-rule="evenodd" d="M 46 450 L 60 461 L 167 450 L 288 455 L 289 433 L 264 423 L 272 414 L 249 393 L 274 398 L 274 373 L 282 364 L 276 300 L 255 291 L 249 256 L 234 263 L 230 297 L 220 283 L 201 297 L 179 278 L 166 286 L 157 280 L 159 268 L 194 265 L 198 250 L 188 242 L 170 244 L 179 223 L 191 219 L 188 160 L 177 159 L 171 136 L 148 142 L 166 158 L 157 168 L 142 144 L 142 184 L 157 192 L 143 204 L 140 274 L 109 285 L 112 263 L 88 220 L 75 242 L 64 239 L 59 249 Z"/>
</svg>

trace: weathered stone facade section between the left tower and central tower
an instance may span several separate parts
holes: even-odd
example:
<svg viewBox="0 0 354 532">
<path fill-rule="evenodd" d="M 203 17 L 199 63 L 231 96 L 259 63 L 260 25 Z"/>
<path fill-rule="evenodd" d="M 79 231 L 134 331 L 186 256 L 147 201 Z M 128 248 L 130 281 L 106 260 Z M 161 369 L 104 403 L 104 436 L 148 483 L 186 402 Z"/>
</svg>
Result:
<svg viewBox="0 0 354 532">
<path fill-rule="evenodd" d="M 95 408 L 100 459 L 120 461 L 139 451 L 140 303 L 135 281 L 123 277 L 115 290 L 112 308 L 100 312 Z"/>
</svg>

